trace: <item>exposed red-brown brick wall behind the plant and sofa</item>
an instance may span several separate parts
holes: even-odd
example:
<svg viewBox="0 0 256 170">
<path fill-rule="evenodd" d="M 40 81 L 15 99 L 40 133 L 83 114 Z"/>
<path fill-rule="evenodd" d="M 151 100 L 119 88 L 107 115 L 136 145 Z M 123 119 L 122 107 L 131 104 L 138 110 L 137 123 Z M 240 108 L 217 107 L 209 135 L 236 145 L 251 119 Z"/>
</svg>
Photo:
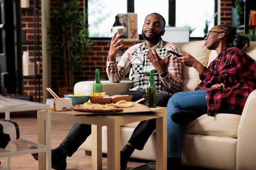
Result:
<svg viewBox="0 0 256 170">
<path fill-rule="evenodd" d="M 54 0 L 50 0 L 51 5 L 54 4 Z M 83 2 L 83 0 L 81 0 Z M 33 0 L 29 1 L 30 7 L 33 7 Z M 40 13 L 40 4 L 41 0 L 39 0 L 39 17 Z M 221 24 L 230 24 L 231 25 L 231 5 L 232 0 L 221 0 Z M 39 18 L 39 21 L 41 17 Z M 40 28 L 41 28 L 41 22 Z M 34 41 L 34 18 L 33 18 L 33 11 L 24 11 L 22 10 L 22 29 L 26 30 L 26 40 L 27 41 Z M 41 40 L 41 29 L 39 29 L 39 35 Z M 39 42 L 40 42 L 39 40 Z M 95 68 L 100 69 L 100 75 L 102 80 L 108 79 L 106 75 L 106 57 L 108 56 L 108 49 L 110 45 L 110 40 L 93 40 L 94 44 L 91 46 L 90 53 L 83 56 L 83 71 L 81 75 L 79 75 L 79 81 L 86 81 L 86 80 L 94 80 L 95 75 Z M 127 49 L 129 46 L 132 46 L 138 42 L 125 42 L 126 44 L 124 49 Z M 41 44 L 41 42 L 40 42 Z M 42 77 L 42 58 L 41 58 L 41 46 L 37 46 L 39 49 L 39 56 L 40 56 L 40 77 Z M 29 51 L 30 61 L 34 62 L 34 44 L 23 44 L 22 45 L 23 51 Z M 56 66 L 56 61 L 52 61 L 52 89 L 57 92 L 58 91 L 58 82 L 57 82 L 57 74 L 54 71 L 54 67 Z M 42 80 L 42 79 L 40 79 Z M 40 88 L 42 88 L 42 82 L 40 83 Z M 35 82 L 34 79 L 31 77 L 25 77 L 24 79 L 24 95 L 33 95 L 35 96 Z M 37 86 L 38 88 L 38 86 Z M 38 91 L 39 89 L 37 89 Z M 40 92 L 40 101 L 43 101 L 43 94 L 42 89 Z M 35 101 L 35 97 L 34 97 Z M 37 98 L 37 101 L 39 99 Z"/>
</svg>

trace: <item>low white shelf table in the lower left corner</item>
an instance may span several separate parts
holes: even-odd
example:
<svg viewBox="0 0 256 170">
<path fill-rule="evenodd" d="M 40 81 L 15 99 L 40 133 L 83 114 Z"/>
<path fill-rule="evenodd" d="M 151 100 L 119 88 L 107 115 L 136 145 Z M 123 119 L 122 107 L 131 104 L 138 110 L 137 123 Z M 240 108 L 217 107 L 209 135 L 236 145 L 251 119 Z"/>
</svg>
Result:
<svg viewBox="0 0 256 170">
<path fill-rule="evenodd" d="M 46 109 L 46 126 L 45 132 L 46 136 L 51 136 L 51 116 L 50 116 L 50 106 L 46 104 L 40 104 L 36 102 L 28 102 L 19 99 L 11 99 L 15 102 L 22 102 L 23 105 L 20 106 L 9 106 L 4 107 L 0 104 L 0 113 L 5 113 L 5 119 L 10 120 L 10 114 L 12 112 L 21 111 L 31 111 L 31 110 L 43 110 Z M 0 99 L 1 102 L 1 99 Z M 38 134 L 40 135 L 40 134 Z M 30 146 L 36 146 L 36 149 L 30 150 Z M 15 155 L 31 154 L 36 152 L 45 152 L 46 155 L 46 169 L 51 170 L 51 143 L 50 139 L 46 139 L 46 145 L 37 144 L 33 141 L 28 141 L 26 139 L 17 139 L 15 141 L 10 141 L 6 148 L 0 148 L 0 157 L 6 157 L 7 167 L 0 166 L 0 170 L 10 170 L 10 157 Z M 24 165 L 27 166 L 27 165 Z"/>
</svg>

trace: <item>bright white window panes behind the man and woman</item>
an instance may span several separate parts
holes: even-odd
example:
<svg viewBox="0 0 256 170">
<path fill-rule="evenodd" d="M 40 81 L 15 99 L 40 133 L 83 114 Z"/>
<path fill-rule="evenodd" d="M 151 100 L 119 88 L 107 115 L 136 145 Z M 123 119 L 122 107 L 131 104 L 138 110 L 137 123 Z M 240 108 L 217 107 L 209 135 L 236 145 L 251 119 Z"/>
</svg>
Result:
<svg viewBox="0 0 256 170">
<path fill-rule="evenodd" d="M 139 34 L 146 15 L 156 12 L 164 17 L 166 26 L 189 26 L 194 29 L 191 38 L 202 38 L 206 21 L 208 30 L 216 25 L 216 6 L 217 0 L 85 0 L 90 38 L 111 38 L 115 16 L 127 12 L 137 13 Z"/>
</svg>

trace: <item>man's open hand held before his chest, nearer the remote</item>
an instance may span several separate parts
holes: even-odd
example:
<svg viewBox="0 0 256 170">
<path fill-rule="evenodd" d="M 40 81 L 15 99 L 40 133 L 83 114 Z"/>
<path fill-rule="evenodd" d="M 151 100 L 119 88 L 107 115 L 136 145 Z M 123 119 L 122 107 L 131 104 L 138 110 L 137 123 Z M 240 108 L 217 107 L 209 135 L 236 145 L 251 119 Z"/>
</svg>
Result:
<svg viewBox="0 0 256 170">
<path fill-rule="evenodd" d="M 148 49 L 147 54 L 148 60 L 153 64 L 153 66 L 155 67 L 155 69 L 157 69 L 159 73 L 162 73 L 167 70 L 169 64 L 169 57 L 171 56 L 171 54 L 167 55 L 165 59 L 162 59 L 157 54 L 155 48 L 153 48 L 153 51 Z"/>
</svg>

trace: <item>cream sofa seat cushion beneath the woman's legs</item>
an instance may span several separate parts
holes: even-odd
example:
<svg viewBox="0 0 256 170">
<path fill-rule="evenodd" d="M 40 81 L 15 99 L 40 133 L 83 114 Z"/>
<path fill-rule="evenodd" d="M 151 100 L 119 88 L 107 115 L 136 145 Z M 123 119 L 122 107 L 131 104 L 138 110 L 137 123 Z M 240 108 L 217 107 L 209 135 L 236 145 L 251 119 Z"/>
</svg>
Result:
<svg viewBox="0 0 256 170">
<path fill-rule="evenodd" d="M 202 115 L 186 126 L 186 133 L 236 138 L 241 115 L 218 113 L 215 116 Z"/>
</svg>

